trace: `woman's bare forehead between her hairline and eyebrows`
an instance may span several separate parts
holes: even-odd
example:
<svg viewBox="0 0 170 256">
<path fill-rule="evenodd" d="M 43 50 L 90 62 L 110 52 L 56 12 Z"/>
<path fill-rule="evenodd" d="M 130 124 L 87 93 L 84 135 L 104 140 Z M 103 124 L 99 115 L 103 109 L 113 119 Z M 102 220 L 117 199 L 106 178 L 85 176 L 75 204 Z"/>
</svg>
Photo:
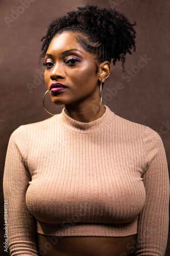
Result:
<svg viewBox="0 0 170 256">
<path fill-rule="evenodd" d="M 80 35 L 80 34 L 75 32 L 67 32 L 67 31 L 56 35 L 52 39 L 48 47 L 47 53 L 50 53 L 51 51 L 62 52 L 62 51 L 74 49 L 74 48 L 85 53 L 86 51 L 80 46 L 79 42 L 76 39 L 77 35 Z"/>
</svg>

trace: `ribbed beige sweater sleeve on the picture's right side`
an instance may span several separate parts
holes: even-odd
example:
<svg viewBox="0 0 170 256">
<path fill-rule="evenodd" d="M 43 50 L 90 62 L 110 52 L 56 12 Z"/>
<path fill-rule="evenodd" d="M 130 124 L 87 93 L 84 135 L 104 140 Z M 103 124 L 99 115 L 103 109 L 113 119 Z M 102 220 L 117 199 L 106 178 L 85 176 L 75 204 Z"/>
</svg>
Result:
<svg viewBox="0 0 170 256">
<path fill-rule="evenodd" d="M 160 136 L 148 126 L 143 133 L 146 200 L 138 218 L 136 256 L 163 256 L 168 237 L 169 175 Z"/>
</svg>

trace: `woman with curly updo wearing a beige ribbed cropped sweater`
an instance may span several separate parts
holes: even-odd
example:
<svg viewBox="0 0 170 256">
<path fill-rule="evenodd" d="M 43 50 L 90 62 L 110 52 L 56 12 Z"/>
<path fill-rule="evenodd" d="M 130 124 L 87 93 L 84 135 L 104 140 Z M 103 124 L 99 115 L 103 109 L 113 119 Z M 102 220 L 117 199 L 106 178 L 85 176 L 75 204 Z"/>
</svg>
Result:
<svg viewBox="0 0 170 256">
<path fill-rule="evenodd" d="M 97 6 L 67 14 L 41 39 L 46 93 L 65 108 L 19 126 L 8 145 L 10 254 L 164 255 L 169 177 L 161 138 L 102 102 L 111 59 L 124 67 L 135 50 L 135 24 Z"/>
</svg>

